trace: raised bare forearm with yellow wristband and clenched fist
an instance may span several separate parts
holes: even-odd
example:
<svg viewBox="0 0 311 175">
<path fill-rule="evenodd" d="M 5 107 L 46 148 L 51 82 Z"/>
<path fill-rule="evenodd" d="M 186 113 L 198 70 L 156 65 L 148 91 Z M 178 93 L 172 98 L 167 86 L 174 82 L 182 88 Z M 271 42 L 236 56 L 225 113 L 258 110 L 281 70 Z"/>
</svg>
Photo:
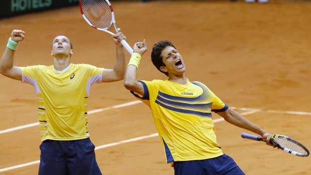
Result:
<svg viewBox="0 0 311 175">
<path fill-rule="evenodd" d="M 140 95 L 144 95 L 144 90 L 142 84 L 137 81 L 136 75 L 141 55 L 146 51 L 147 43 L 145 40 L 135 43 L 124 77 L 124 87 Z"/>
</svg>

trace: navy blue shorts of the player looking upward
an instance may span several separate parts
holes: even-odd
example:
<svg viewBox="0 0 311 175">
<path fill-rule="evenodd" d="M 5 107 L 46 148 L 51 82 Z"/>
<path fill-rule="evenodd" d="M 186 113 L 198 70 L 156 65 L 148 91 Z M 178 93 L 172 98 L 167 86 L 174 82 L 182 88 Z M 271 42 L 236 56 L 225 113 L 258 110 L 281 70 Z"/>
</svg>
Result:
<svg viewBox="0 0 311 175">
<path fill-rule="evenodd" d="M 94 148 L 89 138 L 44 140 L 40 145 L 39 175 L 101 175 Z"/>
</svg>

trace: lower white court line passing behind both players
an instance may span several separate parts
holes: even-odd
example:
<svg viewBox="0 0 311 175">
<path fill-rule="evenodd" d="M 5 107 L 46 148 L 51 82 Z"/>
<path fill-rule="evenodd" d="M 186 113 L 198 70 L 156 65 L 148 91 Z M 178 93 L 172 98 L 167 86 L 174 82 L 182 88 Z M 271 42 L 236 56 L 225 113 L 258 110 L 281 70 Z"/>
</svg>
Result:
<svg viewBox="0 0 311 175">
<path fill-rule="evenodd" d="M 247 113 L 249 113 L 249 112 L 247 112 Z M 253 113 L 255 113 L 255 112 L 253 112 Z M 241 113 L 241 114 L 242 115 L 247 115 L 247 114 L 243 114 L 243 113 Z M 213 120 L 214 123 L 217 123 L 217 122 L 220 122 L 220 121 L 224 121 L 224 119 L 223 118 L 219 118 L 219 119 Z M 156 136 L 159 136 L 159 134 L 158 133 L 153 133 L 153 134 L 144 135 L 144 136 L 140 136 L 140 137 L 130 138 L 130 139 L 127 139 L 127 140 L 121 140 L 121 141 L 117 141 L 117 142 L 114 142 L 114 143 L 108 143 L 108 144 L 96 146 L 95 150 L 102 149 L 102 148 L 105 148 L 105 147 L 115 146 L 115 145 L 119 145 L 119 144 L 123 144 L 123 143 L 133 142 L 133 141 L 137 141 L 137 140 L 142 140 L 142 139 L 146 139 L 146 138 L 156 137 Z M 2 168 L 2 169 L 0 169 L 0 172 L 8 171 L 8 170 L 11 170 L 11 169 L 17 169 L 17 168 L 20 168 L 20 167 L 30 166 L 30 165 L 37 164 L 37 163 L 40 163 L 40 160 L 31 161 L 31 162 L 24 163 L 24 164 L 19 164 L 19 165 L 15 165 L 15 166 L 10 166 L 10 167 L 6 167 L 6 168 Z"/>
</svg>

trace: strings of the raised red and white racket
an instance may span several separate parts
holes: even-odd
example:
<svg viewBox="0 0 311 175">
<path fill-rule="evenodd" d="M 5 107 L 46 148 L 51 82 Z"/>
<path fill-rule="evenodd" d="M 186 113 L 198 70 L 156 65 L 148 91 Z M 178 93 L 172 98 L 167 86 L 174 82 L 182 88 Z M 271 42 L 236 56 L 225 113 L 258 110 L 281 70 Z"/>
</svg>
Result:
<svg viewBox="0 0 311 175">
<path fill-rule="evenodd" d="M 83 0 L 81 4 L 85 18 L 96 28 L 108 29 L 112 25 L 112 13 L 104 0 Z"/>
</svg>

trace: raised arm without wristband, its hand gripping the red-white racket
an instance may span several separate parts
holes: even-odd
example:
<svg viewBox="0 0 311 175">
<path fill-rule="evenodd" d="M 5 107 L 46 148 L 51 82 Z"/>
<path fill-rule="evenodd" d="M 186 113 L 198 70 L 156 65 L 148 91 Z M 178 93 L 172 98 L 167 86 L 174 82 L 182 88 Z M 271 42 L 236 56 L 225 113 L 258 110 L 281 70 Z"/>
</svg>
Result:
<svg viewBox="0 0 311 175">
<path fill-rule="evenodd" d="M 123 45 L 120 42 L 125 40 L 126 37 L 120 32 L 120 29 L 118 29 L 117 34 L 112 38 L 116 46 L 116 59 L 112 69 L 104 69 L 102 82 L 112 82 L 124 79 L 125 54 Z"/>
</svg>

